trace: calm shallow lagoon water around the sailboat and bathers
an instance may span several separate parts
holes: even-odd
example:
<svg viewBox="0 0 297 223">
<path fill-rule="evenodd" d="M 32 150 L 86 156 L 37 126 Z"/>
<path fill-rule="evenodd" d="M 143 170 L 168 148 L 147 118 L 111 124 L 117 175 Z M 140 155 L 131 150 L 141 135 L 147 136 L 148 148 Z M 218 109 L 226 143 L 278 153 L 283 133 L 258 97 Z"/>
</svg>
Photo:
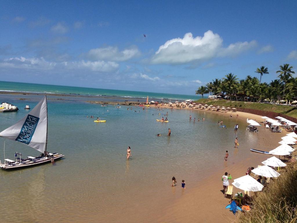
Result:
<svg viewBox="0 0 297 223">
<path fill-rule="evenodd" d="M 42 98 L 21 96 L 25 100 L 20 100 L 20 95 L 0 94 L 0 101 L 20 109 L 0 113 L 0 131 L 25 116 L 26 105 L 33 108 Z M 48 97 L 48 151 L 62 153 L 65 158 L 55 165 L 0 171 L 4 204 L 0 218 L 5 222 L 148 222 L 149 215 L 199 186 L 212 169 L 224 167 L 225 150 L 229 150 L 228 162 L 238 163 L 257 145 L 257 134 L 245 131 L 244 121 L 217 112 L 142 110 L 135 106 L 127 110 L 127 106 L 117 109 L 55 98 L 67 99 Z M 166 112 L 169 123 L 157 122 Z M 87 115 L 106 123 L 94 123 Z M 196 118 L 195 123 L 189 121 L 189 115 Z M 221 119 L 227 129 L 218 127 Z M 236 123 L 238 132 L 233 129 Z M 168 128 L 170 137 L 166 136 Z M 235 137 L 240 139 L 240 155 L 233 148 Z M 129 161 L 128 146 L 132 150 Z M 0 137 L 2 162 L 3 148 Z M 39 154 L 26 145 L 5 140 L 6 158 L 13 159 L 17 151 L 23 158 Z M 170 186 L 173 176 L 178 181 L 174 188 Z M 181 193 L 182 179 L 187 182 L 187 191 Z"/>
</svg>

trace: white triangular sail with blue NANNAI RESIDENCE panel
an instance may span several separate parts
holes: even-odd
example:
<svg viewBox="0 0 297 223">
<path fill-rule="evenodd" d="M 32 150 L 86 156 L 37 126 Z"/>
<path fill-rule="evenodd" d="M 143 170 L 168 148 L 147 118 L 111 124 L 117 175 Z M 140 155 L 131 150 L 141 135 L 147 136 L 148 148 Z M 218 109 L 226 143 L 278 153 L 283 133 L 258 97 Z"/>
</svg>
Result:
<svg viewBox="0 0 297 223">
<path fill-rule="evenodd" d="M 0 136 L 22 142 L 44 153 L 47 137 L 46 96 L 20 121 L 0 132 Z"/>
</svg>

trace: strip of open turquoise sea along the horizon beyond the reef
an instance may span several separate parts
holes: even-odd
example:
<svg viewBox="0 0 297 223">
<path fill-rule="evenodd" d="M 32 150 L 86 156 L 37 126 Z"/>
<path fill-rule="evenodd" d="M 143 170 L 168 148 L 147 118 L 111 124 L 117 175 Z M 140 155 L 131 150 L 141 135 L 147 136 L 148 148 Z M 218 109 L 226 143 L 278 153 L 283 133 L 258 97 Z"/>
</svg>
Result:
<svg viewBox="0 0 297 223">
<path fill-rule="evenodd" d="M 193 99 L 198 100 L 201 98 L 198 95 L 180 95 L 180 94 L 166 94 L 154 92 L 139 92 L 139 91 L 126 91 L 126 90 L 112 90 L 112 89 L 99 89 L 87 87 L 70 87 L 60 85 L 48 84 L 30 84 L 19 82 L 0 81 L 0 91 L 12 92 L 47 92 L 56 94 L 80 94 L 80 95 L 93 95 L 93 96 L 117 96 L 117 97 L 131 97 L 131 98 L 168 98 L 168 99 Z"/>
</svg>

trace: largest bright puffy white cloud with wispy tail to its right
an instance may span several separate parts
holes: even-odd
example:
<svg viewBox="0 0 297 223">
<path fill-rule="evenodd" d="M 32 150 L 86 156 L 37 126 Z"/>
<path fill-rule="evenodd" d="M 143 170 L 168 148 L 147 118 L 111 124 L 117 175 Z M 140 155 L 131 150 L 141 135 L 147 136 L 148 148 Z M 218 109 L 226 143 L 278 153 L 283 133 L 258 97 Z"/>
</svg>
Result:
<svg viewBox="0 0 297 223">
<path fill-rule="evenodd" d="M 211 30 L 204 33 L 203 37 L 193 37 L 192 33 L 186 33 L 183 38 L 168 40 L 161 45 L 151 62 L 154 64 L 185 64 L 209 60 L 214 57 L 235 56 L 247 51 L 256 45 L 256 41 L 237 42 L 224 48 L 223 40 L 219 34 Z"/>
</svg>

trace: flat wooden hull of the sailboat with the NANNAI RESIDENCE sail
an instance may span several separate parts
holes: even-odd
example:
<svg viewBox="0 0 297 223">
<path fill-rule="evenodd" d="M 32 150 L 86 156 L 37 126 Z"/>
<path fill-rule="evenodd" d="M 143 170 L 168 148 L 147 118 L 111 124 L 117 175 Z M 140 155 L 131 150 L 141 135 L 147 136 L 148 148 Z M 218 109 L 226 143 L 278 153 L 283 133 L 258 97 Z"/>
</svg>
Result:
<svg viewBox="0 0 297 223">
<path fill-rule="evenodd" d="M 54 153 L 53 154 L 53 159 L 54 160 L 57 160 L 57 159 L 60 159 L 62 158 L 64 155 L 63 154 L 58 154 L 58 153 Z M 5 170 L 8 170 L 8 169 L 19 169 L 19 168 L 25 168 L 25 167 L 32 167 L 32 166 L 36 166 L 36 165 L 40 165 L 40 164 L 45 164 L 45 163 L 48 163 L 50 162 L 51 159 L 48 158 L 48 157 L 42 157 L 42 158 L 36 158 L 34 160 L 30 160 L 30 159 L 27 159 L 25 161 L 22 161 L 22 163 L 12 163 L 12 164 L 0 164 L 0 168 L 1 169 L 5 169 Z"/>
</svg>

